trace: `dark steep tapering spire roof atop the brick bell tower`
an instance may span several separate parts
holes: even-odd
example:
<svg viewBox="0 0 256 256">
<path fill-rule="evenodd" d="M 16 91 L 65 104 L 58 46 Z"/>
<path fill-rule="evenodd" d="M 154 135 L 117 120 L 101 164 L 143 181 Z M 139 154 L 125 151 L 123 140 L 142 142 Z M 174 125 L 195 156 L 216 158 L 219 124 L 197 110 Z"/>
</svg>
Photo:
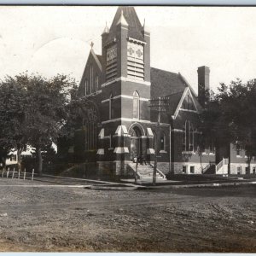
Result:
<svg viewBox="0 0 256 256">
<path fill-rule="evenodd" d="M 113 38 L 116 32 L 116 25 L 119 22 L 119 18 L 121 16 L 121 13 L 123 11 L 123 15 L 125 17 L 125 20 L 128 24 L 128 37 L 129 38 L 135 38 L 137 40 L 143 41 L 143 26 L 141 25 L 140 20 L 137 17 L 137 13 L 132 6 L 119 6 L 117 9 L 112 25 L 109 29 L 109 36 L 108 38 Z"/>
</svg>

